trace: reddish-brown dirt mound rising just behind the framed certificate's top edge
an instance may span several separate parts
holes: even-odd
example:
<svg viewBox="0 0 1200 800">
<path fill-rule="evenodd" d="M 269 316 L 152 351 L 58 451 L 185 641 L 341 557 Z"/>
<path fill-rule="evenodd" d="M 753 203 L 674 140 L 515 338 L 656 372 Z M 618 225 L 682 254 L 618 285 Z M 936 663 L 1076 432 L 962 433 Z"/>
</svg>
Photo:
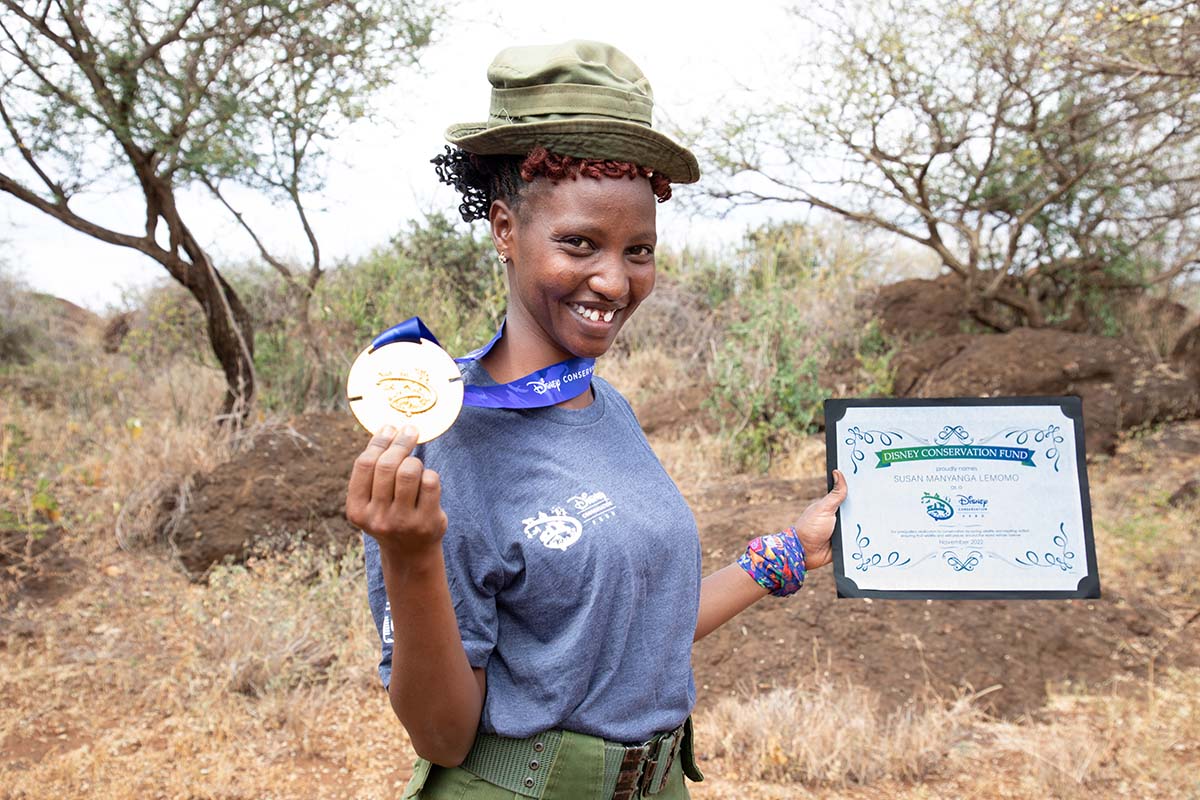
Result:
<svg viewBox="0 0 1200 800">
<path fill-rule="evenodd" d="M 1111 451 L 1121 431 L 1200 415 L 1195 377 L 1103 336 L 956 333 L 911 344 L 894 363 L 900 397 L 1079 395 L 1092 453 Z"/>
</svg>

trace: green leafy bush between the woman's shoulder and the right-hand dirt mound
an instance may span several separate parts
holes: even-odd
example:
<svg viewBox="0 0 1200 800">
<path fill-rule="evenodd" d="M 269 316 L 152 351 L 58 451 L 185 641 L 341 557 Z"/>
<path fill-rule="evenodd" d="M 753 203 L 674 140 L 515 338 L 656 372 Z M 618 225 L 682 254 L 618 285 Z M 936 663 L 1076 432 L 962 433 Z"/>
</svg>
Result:
<svg viewBox="0 0 1200 800">
<path fill-rule="evenodd" d="M 892 392 L 895 347 L 854 302 L 882 264 L 844 225 L 780 223 L 749 231 L 724 272 L 695 278 L 732 285 L 708 409 L 737 468 L 766 470 L 820 431 L 827 397 Z"/>
</svg>

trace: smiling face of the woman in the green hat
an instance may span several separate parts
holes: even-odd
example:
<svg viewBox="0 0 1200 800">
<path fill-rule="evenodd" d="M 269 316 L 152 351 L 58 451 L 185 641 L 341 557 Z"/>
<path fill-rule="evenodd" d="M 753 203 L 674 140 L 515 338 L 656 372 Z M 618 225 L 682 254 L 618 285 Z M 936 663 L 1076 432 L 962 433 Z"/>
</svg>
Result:
<svg viewBox="0 0 1200 800">
<path fill-rule="evenodd" d="M 491 223 L 510 259 L 506 330 L 539 356 L 602 355 L 654 289 L 655 198 L 644 178 L 536 178 L 516 209 L 493 203 Z"/>
</svg>

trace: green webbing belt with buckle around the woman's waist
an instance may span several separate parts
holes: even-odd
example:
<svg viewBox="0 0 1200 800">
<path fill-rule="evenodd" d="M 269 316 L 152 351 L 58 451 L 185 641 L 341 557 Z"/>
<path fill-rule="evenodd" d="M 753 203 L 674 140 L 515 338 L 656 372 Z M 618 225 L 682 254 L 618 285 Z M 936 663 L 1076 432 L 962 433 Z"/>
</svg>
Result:
<svg viewBox="0 0 1200 800">
<path fill-rule="evenodd" d="M 641 745 L 605 741 L 604 778 L 596 796 L 632 800 L 661 792 L 679 754 L 686 726 L 684 722 Z M 527 739 L 481 733 L 462 768 L 521 796 L 541 798 L 563 736 L 562 730 L 547 730 Z"/>
</svg>

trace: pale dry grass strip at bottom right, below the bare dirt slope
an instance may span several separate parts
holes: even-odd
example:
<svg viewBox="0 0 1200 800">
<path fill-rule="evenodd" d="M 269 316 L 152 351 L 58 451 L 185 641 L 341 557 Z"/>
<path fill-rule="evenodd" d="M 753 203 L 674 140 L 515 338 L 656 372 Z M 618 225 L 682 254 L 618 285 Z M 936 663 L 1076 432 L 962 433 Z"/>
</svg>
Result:
<svg viewBox="0 0 1200 800">
<path fill-rule="evenodd" d="M 739 796 L 792 796 L 797 783 L 822 796 L 1200 796 L 1200 672 L 1052 694 L 1043 716 L 990 720 L 961 697 L 884 717 L 868 688 L 816 684 L 721 700 L 697 718 L 697 740 L 719 781 L 757 792 Z"/>
</svg>

